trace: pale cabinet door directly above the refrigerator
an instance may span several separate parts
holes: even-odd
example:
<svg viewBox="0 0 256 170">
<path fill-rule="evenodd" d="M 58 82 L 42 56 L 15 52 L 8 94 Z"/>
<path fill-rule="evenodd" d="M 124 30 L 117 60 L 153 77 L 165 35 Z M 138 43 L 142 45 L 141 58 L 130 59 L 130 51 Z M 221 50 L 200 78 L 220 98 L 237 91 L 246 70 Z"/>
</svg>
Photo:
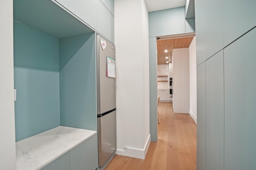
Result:
<svg viewBox="0 0 256 170">
<path fill-rule="evenodd" d="M 96 29 L 114 43 L 114 16 L 100 0 L 96 0 Z"/>
</svg>

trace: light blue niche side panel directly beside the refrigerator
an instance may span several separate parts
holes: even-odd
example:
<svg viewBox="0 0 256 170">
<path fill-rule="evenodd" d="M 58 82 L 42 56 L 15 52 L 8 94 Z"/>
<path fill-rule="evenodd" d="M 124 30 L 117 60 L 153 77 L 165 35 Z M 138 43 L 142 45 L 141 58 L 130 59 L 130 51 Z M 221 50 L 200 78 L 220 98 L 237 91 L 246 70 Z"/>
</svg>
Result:
<svg viewBox="0 0 256 170">
<path fill-rule="evenodd" d="M 60 39 L 60 124 L 97 130 L 95 33 Z"/>
</svg>

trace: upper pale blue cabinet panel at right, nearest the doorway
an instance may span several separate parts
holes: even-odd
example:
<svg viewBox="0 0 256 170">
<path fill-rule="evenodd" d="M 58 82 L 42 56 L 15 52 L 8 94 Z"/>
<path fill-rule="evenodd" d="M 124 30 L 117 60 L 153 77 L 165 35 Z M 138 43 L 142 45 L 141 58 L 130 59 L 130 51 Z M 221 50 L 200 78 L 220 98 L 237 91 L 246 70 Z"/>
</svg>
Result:
<svg viewBox="0 0 256 170">
<path fill-rule="evenodd" d="M 195 11 L 198 66 L 223 49 L 222 0 L 197 0 Z"/>
</svg>

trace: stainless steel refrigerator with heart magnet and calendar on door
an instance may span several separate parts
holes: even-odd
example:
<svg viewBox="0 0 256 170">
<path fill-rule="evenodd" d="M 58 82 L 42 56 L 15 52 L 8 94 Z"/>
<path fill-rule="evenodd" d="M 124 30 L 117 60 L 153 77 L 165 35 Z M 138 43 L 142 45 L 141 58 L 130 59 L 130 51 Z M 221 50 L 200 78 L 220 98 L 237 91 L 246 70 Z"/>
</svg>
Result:
<svg viewBox="0 0 256 170">
<path fill-rule="evenodd" d="M 98 167 L 116 151 L 115 46 L 97 35 Z M 111 60 L 108 63 L 108 60 Z M 111 67 L 110 68 L 110 65 Z M 114 68 L 113 68 L 114 66 Z M 111 75 L 110 75 L 110 72 Z M 109 77 L 110 76 L 110 77 Z"/>
</svg>

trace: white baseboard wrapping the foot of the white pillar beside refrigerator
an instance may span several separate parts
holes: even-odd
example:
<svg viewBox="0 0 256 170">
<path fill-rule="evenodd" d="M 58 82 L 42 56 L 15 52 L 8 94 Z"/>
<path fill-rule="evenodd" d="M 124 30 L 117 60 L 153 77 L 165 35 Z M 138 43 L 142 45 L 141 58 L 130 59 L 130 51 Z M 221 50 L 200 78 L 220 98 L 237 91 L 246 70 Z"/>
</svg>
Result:
<svg viewBox="0 0 256 170">
<path fill-rule="evenodd" d="M 133 158 L 145 159 L 149 144 L 150 144 L 150 135 L 148 136 L 148 140 L 146 141 L 143 149 L 124 147 L 124 150 L 116 149 L 116 154 L 130 156 Z"/>
</svg>

